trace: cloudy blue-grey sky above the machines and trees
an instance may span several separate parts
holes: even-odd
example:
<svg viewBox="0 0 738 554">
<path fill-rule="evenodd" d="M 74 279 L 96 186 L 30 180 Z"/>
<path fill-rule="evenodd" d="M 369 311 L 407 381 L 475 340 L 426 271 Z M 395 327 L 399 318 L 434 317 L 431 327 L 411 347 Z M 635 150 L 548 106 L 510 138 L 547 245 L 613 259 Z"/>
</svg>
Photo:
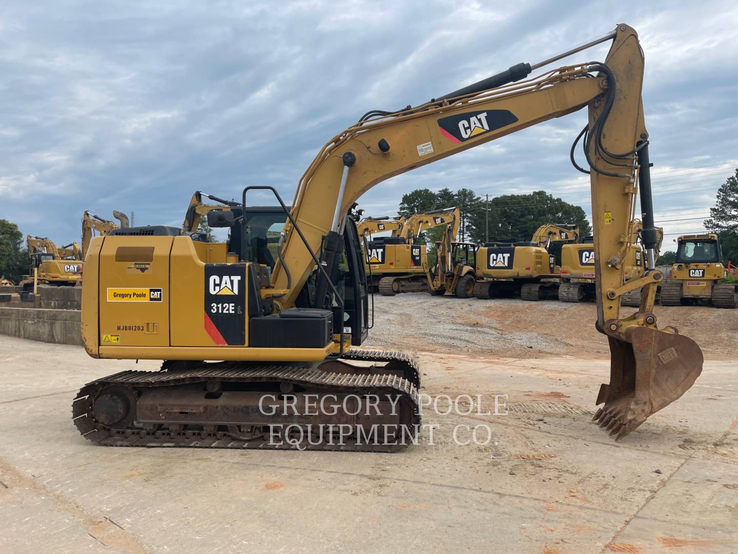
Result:
<svg viewBox="0 0 738 554">
<path fill-rule="evenodd" d="M 646 54 L 656 219 L 668 244 L 703 229 L 738 167 L 734 1 L 6 0 L 0 218 L 66 244 L 86 209 L 180 225 L 195 190 L 231 198 L 274 185 L 289 202 L 323 143 L 369 109 L 422 103 L 621 21 Z M 421 187 L 544 189 L 590 213 L 588 178 L 568 160 L 585 117 L 390 179 L 362 207 L 396 213 Z"/>
</svg>

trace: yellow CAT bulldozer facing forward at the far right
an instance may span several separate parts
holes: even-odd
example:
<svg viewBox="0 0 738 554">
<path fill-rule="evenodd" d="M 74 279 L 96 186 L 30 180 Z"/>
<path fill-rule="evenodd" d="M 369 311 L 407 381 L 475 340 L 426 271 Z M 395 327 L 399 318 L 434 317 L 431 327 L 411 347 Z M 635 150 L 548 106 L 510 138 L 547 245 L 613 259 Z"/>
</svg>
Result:
<svg viewBox="0 0 738 554">
<path fill-rule="evenodd" d="M 726 275 L 720 239 L 715 233 L 680 236 L 671 278 L 669 283 L 661 285 L 661 305 L 738 307 L 736 285 L 718 282 Z"/>
</svg>

